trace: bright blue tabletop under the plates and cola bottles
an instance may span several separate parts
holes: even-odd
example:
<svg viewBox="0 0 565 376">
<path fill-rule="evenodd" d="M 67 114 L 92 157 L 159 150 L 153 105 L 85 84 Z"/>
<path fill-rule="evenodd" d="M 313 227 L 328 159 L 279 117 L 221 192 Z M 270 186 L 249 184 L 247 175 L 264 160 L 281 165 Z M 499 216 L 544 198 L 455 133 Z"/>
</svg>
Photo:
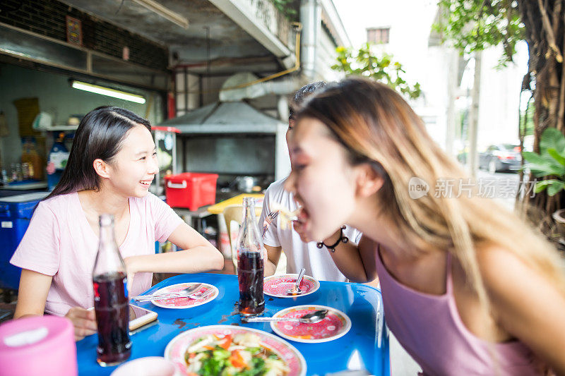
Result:
<svg viewBox="0 0 565 376">
<path fill-rule="evenodd" d="M 237 276 L 231 274 L 183 274 L 160 282 L 148 292 L 182 282 L 204 282 L 218 287 L 220 293 L 214 301 L 183 310 L 159 308 L 151 303 L 141 307 L 158 313 L 158 324 L 133 334 L 131 359 L 143 356 L 163 356 L 165 347 L 174 336 L 203 325 L 240 325 L 261 329 L 274 334 L 269 323 L 242 323 L 237 314 L 239 291 Z M 321 281 L 320 289 L 299 298 L 271 298 L 265 296 L 265 315 L 293 305 L 319 304 L 346 313 L 351 321 L 350 332 L 334 341 L 321 344 L 304 344 L 289 341 L 307 361 L 307 375 L 326 375 L 343 370 L 368 370 L 372 375 L 390 375 L 388 340 L 378 339 L 377 312 L 383 317 L 381 293 L 364 284 Z M 381 331 L 384 332 L 384 331 Z M 103 368 L 96 362 L 97 336 L 88 336 L 77 342 L 79 375 L 109 375 L 116 367 Z M 380 346 L 379 346 L 380 345 Z"/>
</svg>

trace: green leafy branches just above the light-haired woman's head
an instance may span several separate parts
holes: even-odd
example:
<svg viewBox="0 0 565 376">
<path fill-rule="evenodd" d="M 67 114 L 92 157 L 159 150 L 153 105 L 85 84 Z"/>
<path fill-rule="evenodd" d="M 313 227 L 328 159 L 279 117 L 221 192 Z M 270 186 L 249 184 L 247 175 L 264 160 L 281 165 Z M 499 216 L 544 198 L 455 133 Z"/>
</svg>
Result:
<svg viewBox="0 0 565 376">
<path fill-rule="evenodd" d="M 358 50 L 340 46 L 335 51 L 338 57 L 337 63 L 331 67 L 334 71 L 344 72 L 346 75 L 373 78 L 412 99 L 422 94 L 420 83 L 410 85 L 403 78 L 406 72 L 401 63 L 394 61 L 390 54 L 374 55 L 369 43 L 363 44 Z"/>
</svg>

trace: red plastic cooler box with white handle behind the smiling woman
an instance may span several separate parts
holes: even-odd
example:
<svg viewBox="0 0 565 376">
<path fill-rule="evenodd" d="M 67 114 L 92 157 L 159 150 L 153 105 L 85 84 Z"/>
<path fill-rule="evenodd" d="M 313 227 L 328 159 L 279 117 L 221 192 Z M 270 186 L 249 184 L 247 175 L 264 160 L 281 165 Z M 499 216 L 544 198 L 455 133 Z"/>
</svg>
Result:
<svg viewBox="0 0 565 376">
<path fill-rule="evenodd" d="M 212 205 L 216 200 L 218 174 L 183 172 L 165 176 L 165 195 L 171 207 L 186 207 L 193 212 L 198 207 Z"/>
</svg>

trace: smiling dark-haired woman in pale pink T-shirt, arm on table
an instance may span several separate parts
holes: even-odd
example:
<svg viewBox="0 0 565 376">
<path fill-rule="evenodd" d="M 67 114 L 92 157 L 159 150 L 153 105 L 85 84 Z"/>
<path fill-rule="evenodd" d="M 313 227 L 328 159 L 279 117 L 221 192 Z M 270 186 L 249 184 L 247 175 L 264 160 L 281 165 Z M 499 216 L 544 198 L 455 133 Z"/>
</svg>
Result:
<svg viewBox="0 0 565 376">
<path fill-rule="evenodd" d="M 150 123 L 118 107 L 90 111 L 76 131 L 69 162 L 53 192 L 37 206 L 11 263 L 22 268 L 15 318 L 65 315 L 76 339 L 93 334 L 92 272 L 100 214 L 114 215 L 131 295 L 152 272 L 222 269 L 223 257 L 149 186 L 159 171 Z M 182 251 L 155 255 L 155 241 Z"/>
</svg>

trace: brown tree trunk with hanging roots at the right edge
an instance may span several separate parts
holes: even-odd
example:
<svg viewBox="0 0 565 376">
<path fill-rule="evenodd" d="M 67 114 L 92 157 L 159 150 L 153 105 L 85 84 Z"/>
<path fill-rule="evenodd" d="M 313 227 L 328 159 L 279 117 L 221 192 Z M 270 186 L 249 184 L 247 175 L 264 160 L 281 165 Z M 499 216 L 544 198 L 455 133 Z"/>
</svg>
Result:
<svg viewBox="0 0 565 376">
<path fill-rule="evenodd" d="M 528 42 L 530 52 L 523 90 L 533 92 L 534 152 L 540 152 L 540 137 L 546 128 L 557 128 L 564 132 L 565 4 L 563 1 L 518 0 L 521 18 L 525 25 L 525 40 Z M 533 179 L 534 177 L 530 176 L 530 181 Z M 539 215 L 536 215 L 534 220 L 542 226 L 542 231 L 549 235 L 554 227 L 551 214 L 563 207 L 563 195 L 549 197 L 546 191 L 543 191 L 537 193 L 534 198 L 529 196 L 524 195 L 522 198 L 522 207 L 538 212 Z M 528 210 L 528 214 L 532 214 L 532 211 Z"/>
</svg>

